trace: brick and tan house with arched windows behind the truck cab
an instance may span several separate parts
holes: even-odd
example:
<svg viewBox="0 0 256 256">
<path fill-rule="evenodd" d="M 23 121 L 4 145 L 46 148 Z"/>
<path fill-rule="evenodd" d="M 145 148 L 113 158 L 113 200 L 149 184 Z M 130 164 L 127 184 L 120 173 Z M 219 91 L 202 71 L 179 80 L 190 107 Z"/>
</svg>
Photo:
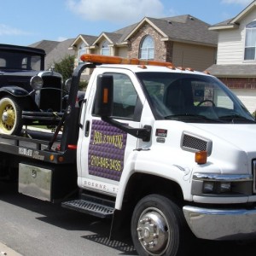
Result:
<svg viewBox="0 0 256 256">
<path fill-rule="evenodd" d="M 102 32 L 98 37 L 79 35 L 69 49 L 76 52 L 75 66 L 79 65 L 80 55 L 91 53 L 171 61 L 177 67 L 203 71 L 216 61 L 218 32 L 209 31 L 208 26 L 191 15 L 145 17 L 116 32 Z"/>
</svg>

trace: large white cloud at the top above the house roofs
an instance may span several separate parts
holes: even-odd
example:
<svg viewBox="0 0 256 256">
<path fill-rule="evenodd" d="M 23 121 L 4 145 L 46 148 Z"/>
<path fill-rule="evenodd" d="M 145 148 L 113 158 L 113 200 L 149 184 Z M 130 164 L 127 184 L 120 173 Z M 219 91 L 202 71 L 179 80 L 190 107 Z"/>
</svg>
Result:
<svg viewBox="0 0 256 256">
<path fill-rule="evenodd" d="M 165 9 L 160 0 L 67 0 L 68 9 L 84 20 L 115 23 L 134 22 L 148 17 L 162 17 Z"/>
</svg>

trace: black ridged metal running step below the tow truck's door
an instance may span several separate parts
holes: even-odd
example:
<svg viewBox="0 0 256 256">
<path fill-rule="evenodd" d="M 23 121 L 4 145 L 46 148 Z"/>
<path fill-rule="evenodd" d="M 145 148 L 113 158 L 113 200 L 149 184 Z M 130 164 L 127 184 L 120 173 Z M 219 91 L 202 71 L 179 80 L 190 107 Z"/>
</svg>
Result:
<svg viewBox="0 0 256 256">
<path fill-rule="evenodd" d="M 78 212 L 85 212 L 99 218 L 112 218 L 114 211 L 114 207 L 84 199 L 65 201 L 61 203 L 61 206 Z"/>
</svg>

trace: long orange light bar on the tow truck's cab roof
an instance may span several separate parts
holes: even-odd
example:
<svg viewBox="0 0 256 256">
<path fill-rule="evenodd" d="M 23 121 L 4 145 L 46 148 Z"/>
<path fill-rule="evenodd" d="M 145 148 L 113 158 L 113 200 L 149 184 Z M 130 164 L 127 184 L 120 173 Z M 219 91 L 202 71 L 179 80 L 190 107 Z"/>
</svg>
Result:
<svg viewBox="0 0 256 256">
<path fill-rule="evenodd" d="M 84 61 L 84 62 L 105 63 L 105 64 L 152 65 L 152 66 L 161 66 L 161 67 L 173 66 L 172 62 L 147 61 L 147 60 L 129 59 L 129 58 L 122 58 L 119 56 L 106 56 L 106 55 L 85 54 L 85 55 L 81 55 L 80 59 L 81 61 Z"/>
</svg>

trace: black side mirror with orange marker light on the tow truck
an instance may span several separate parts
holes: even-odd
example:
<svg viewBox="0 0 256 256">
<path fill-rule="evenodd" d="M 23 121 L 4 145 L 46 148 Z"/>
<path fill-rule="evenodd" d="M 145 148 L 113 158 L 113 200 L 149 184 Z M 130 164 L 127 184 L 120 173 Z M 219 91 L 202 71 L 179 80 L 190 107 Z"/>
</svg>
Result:
<svg viewBox="0 0 256 256">
<path fill-rule="evenodd" d="M 94 113 L 109 117 L 113 113 L 113 76 L 99 75 L 96 84 Z"/>
</svg>

